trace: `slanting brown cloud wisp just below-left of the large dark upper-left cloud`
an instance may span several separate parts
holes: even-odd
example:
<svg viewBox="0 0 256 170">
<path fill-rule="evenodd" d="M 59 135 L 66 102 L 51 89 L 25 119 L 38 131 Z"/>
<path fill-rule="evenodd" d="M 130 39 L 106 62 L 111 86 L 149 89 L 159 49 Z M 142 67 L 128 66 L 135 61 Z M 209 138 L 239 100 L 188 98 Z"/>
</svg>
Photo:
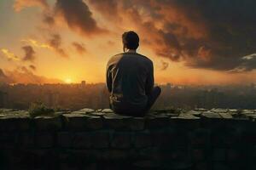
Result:
<svg viewBox="0 0 256 170">
<path fill-rule="evenodd" d="M 61 57 L 68 57 L 66 51 L 61 47 L 61 36 L 59 34 L 52 34 L 48 40 L 49 46 L 55 50 L 56 53 L 60 54 Z"/>
</svg>

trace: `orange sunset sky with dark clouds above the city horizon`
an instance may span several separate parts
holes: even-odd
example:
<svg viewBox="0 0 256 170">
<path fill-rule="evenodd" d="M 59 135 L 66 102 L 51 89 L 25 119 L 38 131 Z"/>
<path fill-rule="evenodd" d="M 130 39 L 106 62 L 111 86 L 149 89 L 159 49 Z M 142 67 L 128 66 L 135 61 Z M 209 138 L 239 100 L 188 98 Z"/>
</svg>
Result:
<svg viewBox="0 0 256 170">
<path fill-rule="evenodd" d="M 121 35 L 157 83 L 256 82 L 254 0 L 1 0 L 0 82 L 105 82 Z"/>
</svg>

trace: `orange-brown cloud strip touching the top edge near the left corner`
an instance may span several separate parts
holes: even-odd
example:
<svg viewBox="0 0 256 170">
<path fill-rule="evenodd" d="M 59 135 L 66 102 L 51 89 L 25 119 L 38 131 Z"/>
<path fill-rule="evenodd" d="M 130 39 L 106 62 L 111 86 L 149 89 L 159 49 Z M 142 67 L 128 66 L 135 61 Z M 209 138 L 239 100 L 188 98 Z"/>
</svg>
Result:
<svg viewBox="0 0 256 170">
<path fill-rule="evenodd" d="M 40 7 L 40 8 L 49 8 L 49 5 L 46 0 L 15 0 L 14 8 L 16 12 L 20 12 L 23 8 L 27 7 Z"/>
</svg>

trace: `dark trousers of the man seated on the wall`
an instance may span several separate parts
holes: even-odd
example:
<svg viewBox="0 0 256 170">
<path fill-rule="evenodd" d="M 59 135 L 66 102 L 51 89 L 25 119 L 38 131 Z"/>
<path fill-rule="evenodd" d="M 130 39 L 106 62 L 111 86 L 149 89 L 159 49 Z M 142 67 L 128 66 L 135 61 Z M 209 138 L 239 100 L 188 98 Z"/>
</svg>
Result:
<svg viewBox="0 0 256 170">
<path fill-rule="evenodd" d="M 146 106 L 143 106 L 142 108 L 131 108 L 127 105 L 121 106 L 119 108 L 116 108 L 115 105 L 109 105 L 110 108 L 120 114 L 120 115 L 129 115 L 129 116 L 144 116 L 154 105 L 154 102 L 156 99 L 160 96 L 161 88 L 160 87 L 154 87 L 150 94 L 148 94 L 148 103 Z"/>
</svg>

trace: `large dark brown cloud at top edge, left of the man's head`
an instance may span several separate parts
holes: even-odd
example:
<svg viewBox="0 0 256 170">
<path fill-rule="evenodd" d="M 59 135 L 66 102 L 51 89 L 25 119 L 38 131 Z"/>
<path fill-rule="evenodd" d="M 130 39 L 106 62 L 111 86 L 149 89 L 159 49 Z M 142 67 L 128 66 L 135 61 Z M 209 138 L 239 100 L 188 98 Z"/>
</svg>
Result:
<svg viewBox="0 0 256 170">
<path fill-rule="evenodd" d="M 106 32 L 97 26 L 90 9 L 82 0 L 57 0 L 55 10 L 67 22 L 67 26 L 83 35 Z"/>
</svg>

